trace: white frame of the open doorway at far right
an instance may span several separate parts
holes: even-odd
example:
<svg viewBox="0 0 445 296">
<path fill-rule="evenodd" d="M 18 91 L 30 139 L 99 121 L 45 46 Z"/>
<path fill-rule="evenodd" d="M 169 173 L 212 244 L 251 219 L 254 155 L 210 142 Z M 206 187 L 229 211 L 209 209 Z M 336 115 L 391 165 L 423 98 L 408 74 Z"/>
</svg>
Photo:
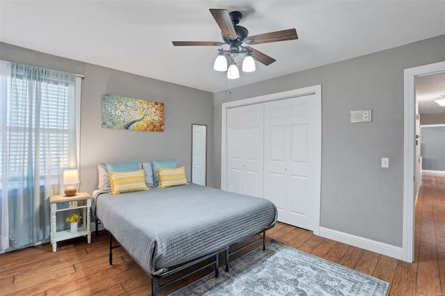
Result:
<svg viewBox="0 0 445 296">
<path fill-rule="evenodd" d="M 403 261 L 414 260 L 414 161 L 415 160 L 415 100 L 417 76 L 445 71 L 445 62 L 422 65 L 404 70 L 404 136 L 403 136 Z"/>
</svg>

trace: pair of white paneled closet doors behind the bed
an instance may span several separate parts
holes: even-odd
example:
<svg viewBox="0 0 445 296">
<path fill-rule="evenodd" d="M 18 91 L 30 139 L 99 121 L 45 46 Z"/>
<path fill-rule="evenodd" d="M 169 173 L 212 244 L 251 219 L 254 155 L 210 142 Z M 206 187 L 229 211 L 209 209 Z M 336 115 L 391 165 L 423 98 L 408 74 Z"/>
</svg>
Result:
<svg viewBox="0 0 445 296">
<path fill-rule="evenodd" d="M 319 214 L 318 104 L 309 94 L 227 110 L 226 190 L 270 199 L 280 222 L 309 230 Z"/>
</svg>

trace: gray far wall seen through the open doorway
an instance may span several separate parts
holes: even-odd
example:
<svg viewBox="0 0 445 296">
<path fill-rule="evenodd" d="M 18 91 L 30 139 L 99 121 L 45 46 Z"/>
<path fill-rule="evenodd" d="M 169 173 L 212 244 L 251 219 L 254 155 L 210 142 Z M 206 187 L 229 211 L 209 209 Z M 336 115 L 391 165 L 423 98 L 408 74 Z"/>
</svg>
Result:
<svg viewBox="0 0 445 296">
<path fill-rule="evenodd" d="M 445 172 L 445 125 L 422 126 L 421 137 L 422 169 Z"/>
</svg>

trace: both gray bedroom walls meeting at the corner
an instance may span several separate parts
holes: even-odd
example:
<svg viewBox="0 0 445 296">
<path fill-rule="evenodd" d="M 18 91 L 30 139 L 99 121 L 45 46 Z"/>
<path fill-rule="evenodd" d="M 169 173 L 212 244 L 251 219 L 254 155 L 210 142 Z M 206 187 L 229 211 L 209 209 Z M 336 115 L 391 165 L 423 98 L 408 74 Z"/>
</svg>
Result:
<svg viewBox="0 0 445 296">
<path fill-rule="evenodd" d="M 322 85 L 321 226 L 402 245 L 403 69 L 445 60 L 445 35 L 212 94 L 0 43 L 0 58 L 84 74 L 81 190 L 97 186 L 97 163 L 175 157 L 191 165 L 191 124 L 207 124 L 208 184 L 220 187 L 221 104 Z M 292 57 L 289 57 L 292 58 Z M 261 65 L 258 71 L 266 71 Z M 101 127 L 104 93 L 165 104 L 165 132 Z M 350 110 L 373 122 L 350 124 Z M 214 117 L 214 118 L 213 118 Z M 214 131 L 214 134 L 211 131 Z M 213 146 L 214 143 L 214 146 Z M 380 158 L 389 157 L 389 169 Z M 190 170 L 188 170 L 190 177 Z"/>
</svg>

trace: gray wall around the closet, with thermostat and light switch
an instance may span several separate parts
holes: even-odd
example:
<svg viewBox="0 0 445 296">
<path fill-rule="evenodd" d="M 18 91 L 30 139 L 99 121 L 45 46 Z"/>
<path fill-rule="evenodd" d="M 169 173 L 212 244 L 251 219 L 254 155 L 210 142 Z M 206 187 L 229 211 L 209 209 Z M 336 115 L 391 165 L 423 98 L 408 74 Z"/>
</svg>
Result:
<svg viewBox="0 0 445 296">
<path fill-rule="evenodd" d="M 444 48 L 442 35 L 214 94 L 215 179 L 221 104 L 321 84 L 321 226 L 401 247 L 403 69 L 445 60 Z M 350 110 L 368 109 L 372 122 L 350 123 Z M 380 167 L 382 157 L 389 157 L 389 168 Z"/>
</svg>

